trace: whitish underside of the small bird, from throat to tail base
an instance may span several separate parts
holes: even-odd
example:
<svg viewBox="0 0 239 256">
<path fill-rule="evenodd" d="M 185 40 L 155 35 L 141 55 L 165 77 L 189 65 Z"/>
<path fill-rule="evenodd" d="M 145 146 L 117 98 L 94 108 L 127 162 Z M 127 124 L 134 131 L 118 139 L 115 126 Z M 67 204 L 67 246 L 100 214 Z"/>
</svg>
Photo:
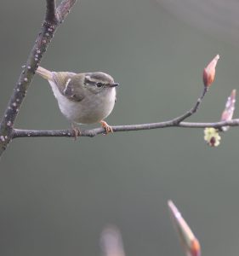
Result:
<svg viewBox="0 0 239 256">
<path fill-rule="evenodd" d="M 71 122 L 93 124 L 105 119 L 112 111 L 116 100 L 116 89 L 109 88 L 99 94 L 85 97 L 81 102 L 73 102 L 63 96 L 54 82 L 49 81 L 61 113 Z"/>
</svg>

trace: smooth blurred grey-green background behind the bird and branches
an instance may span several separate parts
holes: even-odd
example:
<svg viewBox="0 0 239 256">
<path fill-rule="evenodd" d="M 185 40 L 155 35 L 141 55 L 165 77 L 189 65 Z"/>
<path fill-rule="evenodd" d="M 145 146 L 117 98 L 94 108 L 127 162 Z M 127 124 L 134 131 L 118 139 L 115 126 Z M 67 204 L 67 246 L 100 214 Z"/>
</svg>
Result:
<svg viewBox="0 0 239 256">
<path fill-rule="evenodd" d="M 1 3 L 1 115 L 44 13 L 45 1 Z M 81 0 L 41 65 L 110 73 L 121 86 L 107 122 L 129 125 L 185 113 L 201 94 L 203 67 L 219 54 L 215 82 L 189 119 L 217 121 L 239 86 L 238 13 L 233 0 Z M 70 127 L 37 76 L 15 125 Z M 169 199 L 201 241 L 202 255 L 237 255 L 238 132 L 225 133 L 219 148 L 208 147 L 202 130 L 182 128 L 77 142 L 15 139 L 0 162 L 1 255 L 101 255 L 107 224 L 121 230 L 126 255 L 184 255 Z"/>
</svg>

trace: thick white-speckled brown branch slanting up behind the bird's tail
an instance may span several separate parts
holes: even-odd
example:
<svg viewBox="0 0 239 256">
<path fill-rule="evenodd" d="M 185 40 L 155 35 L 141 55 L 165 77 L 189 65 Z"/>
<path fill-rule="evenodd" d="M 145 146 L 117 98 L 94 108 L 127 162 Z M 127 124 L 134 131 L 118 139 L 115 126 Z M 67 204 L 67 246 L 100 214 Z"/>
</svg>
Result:
<svg viewBox="0 0 239 256">
<path fill-rule="evenodd" d="M 65 19 L 72 5 L 77 0 L 63 0 L 55 10 L 55 1 L 47 0 L 47 11 L 43 21 L 42 31 L 39 33 L 31 53 L 28 56 L 26 65 L 20 73 L 20 78 L 15 85 L 14 92 L 10 98 L 9 104 L 3 114 L 0 123 L 0 155 L 14 137 L 14 122 L 18 116 L 20 106 L 26 96 L 26 91 L 31 84 L 35 71 L 42 60 L 43 54 L 48 48 L 51 39 L 54 36 L 56 28 Z"/>
</svg>

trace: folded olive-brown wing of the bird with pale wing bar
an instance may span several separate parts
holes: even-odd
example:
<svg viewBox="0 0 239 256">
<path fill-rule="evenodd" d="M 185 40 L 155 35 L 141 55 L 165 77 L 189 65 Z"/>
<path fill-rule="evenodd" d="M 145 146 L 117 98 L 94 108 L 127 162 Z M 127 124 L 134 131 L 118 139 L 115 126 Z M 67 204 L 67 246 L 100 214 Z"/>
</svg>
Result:
<svg viewBox="0 0 239 256">
<path fill-rule="evenodd" d="M 73 102 L 81 102 L 85 97 L 85 88 L 81 85 L 82 75 L 68 72 L 53 73 L 54 82 L 60 93 Z"/>
</svg>

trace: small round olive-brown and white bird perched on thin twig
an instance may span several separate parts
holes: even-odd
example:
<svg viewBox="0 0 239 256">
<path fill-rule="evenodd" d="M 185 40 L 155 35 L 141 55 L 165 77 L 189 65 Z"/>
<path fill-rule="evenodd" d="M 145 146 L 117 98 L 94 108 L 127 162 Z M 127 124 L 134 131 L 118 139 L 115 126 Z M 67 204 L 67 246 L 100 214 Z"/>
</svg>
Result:
<svg viewBox="0 0 239 256">
<path fill-rule="evenodd" d="M 37 67 L 36 73 L 47 79 L 58 102 L 61 113 L 71 122 L 75 135 L 80 136 L 75 124 L 100 123 L 105 133 L 113 132 L 105 118 L 116 102 L 116 87 L 111 75 L 102 72 L 53 72 Z"/>
</svg>

